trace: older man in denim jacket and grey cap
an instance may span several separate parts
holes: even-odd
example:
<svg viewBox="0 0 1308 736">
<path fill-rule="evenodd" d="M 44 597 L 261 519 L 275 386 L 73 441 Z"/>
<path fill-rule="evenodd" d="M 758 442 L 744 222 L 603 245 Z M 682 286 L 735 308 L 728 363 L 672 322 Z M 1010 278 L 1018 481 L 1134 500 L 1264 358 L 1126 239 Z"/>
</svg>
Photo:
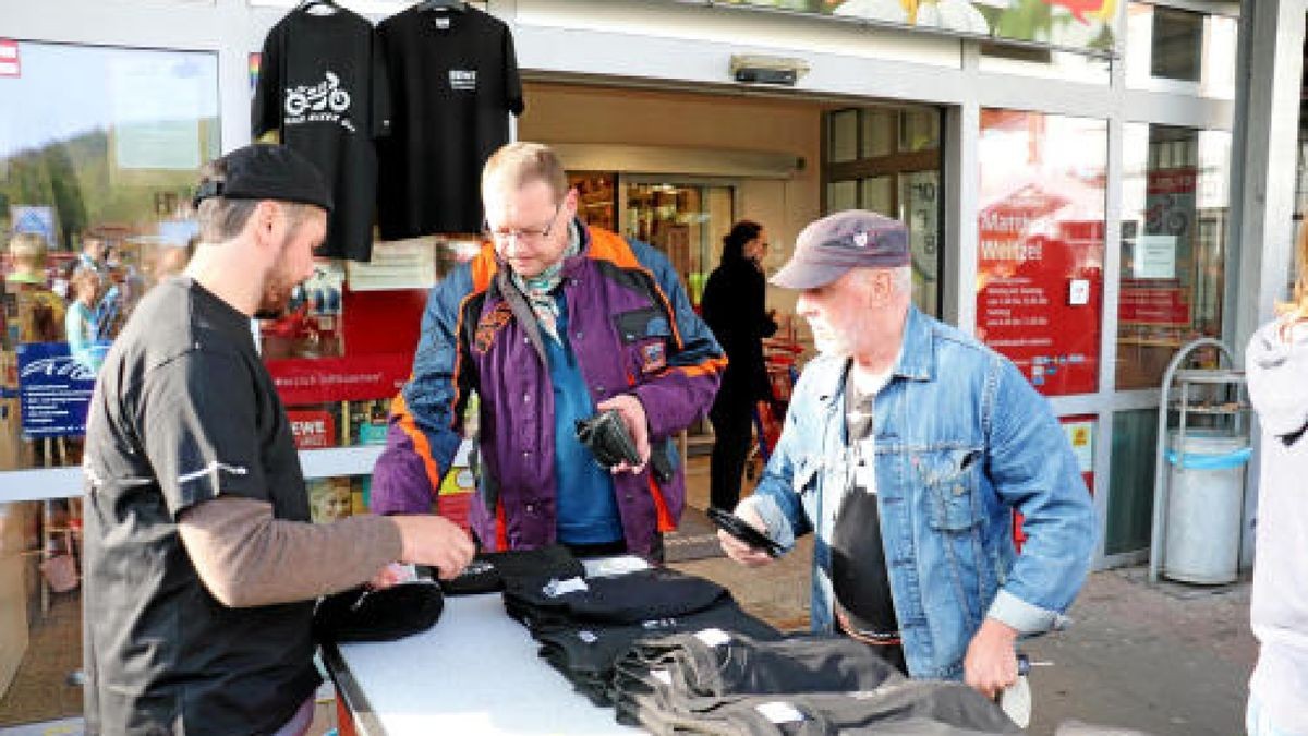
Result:
<svg viewBox="0 0 1308 736">
<path fill-rule="evenodd" d="M 1058 420 L 1012 363 L 913 308 L 897 220 L 818 220 L 772 283 L 800 291 L 821 355 L 736 515 L 787 550 L 816 534 L 814 630 L 997 695 L 1016 681 L 1016 638 L 1067 623 L 1095 545 Z M 736 562 L 772 561 L 718 537 Z"/>
</svg>

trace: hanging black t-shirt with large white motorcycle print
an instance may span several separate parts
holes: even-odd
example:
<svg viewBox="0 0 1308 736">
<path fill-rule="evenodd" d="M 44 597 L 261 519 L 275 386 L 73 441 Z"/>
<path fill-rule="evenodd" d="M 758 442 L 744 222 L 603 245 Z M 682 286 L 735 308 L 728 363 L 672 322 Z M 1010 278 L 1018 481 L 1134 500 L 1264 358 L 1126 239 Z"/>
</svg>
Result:
<svg viewBox="0 0 1308 736">
<path fill-rule="evenodd" d="M 368 261 L 377 203 L 374 139 L 390 132 L 390 88 L 368 20 L 345 9 L 293 10 L 268 31 L 251 111 L 254 138 L 268 131 L 303 153 L 332 189 L 334 210 L 318 255 Z"/>
</svg>

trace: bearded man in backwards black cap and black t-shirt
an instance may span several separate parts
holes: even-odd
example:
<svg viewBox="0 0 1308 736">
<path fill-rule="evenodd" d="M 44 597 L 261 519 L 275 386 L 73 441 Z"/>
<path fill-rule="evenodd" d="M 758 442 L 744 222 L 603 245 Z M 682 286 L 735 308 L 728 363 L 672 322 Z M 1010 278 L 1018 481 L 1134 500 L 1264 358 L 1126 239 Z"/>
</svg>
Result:
<svg viewBox="0 0 1308 736">
<path fill-rule="evenodd" d="M 455 575 L 467 536 L 433 516 L 309 523 L 252 316 L 313 272 L 331 198 L 284 147 L 209 164 L 186 274 L 140 303 L 86 427 L 88 733 L 302 733 L 319 676 L 317 596 L 388 562 Z"/>
</svg>

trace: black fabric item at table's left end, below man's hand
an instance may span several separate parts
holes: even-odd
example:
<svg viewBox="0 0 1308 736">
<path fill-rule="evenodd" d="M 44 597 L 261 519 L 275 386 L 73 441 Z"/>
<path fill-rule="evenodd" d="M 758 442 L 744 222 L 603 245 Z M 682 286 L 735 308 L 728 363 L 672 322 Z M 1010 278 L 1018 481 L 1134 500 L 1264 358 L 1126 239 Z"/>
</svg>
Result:
<svg viewBox="0 0 1308 736">
<path fill-rule="evenodd" d="M 318 601 L 314 639 L 394 642 L 426 631 L 443 609 L 445 596 L 432 581 L 400 583 L 381 591 L 360 585 Z"/>
</svg>

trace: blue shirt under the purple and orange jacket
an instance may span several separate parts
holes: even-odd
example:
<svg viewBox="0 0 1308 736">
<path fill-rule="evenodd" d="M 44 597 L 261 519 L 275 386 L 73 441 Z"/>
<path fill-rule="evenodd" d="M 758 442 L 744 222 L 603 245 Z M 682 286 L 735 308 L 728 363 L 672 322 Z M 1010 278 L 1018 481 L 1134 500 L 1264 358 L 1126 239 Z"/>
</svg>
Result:
<svg viewBox="0 0 1308 736">
<path fill-rule="evenodd" d="M 568 342 L 568 304 L 562 291 L 555 299 L 559 301 L 559 339 L 545 331 L 540 337 L 549 358 L 549 384 L 555 392 L 559 541 L 573 545 L 615 542 L 623 538 L 623 524 L 613 498 L 613 478 L 577 441 L 577 420 L 594 416 L 595 406 Z"/>
</svg>

